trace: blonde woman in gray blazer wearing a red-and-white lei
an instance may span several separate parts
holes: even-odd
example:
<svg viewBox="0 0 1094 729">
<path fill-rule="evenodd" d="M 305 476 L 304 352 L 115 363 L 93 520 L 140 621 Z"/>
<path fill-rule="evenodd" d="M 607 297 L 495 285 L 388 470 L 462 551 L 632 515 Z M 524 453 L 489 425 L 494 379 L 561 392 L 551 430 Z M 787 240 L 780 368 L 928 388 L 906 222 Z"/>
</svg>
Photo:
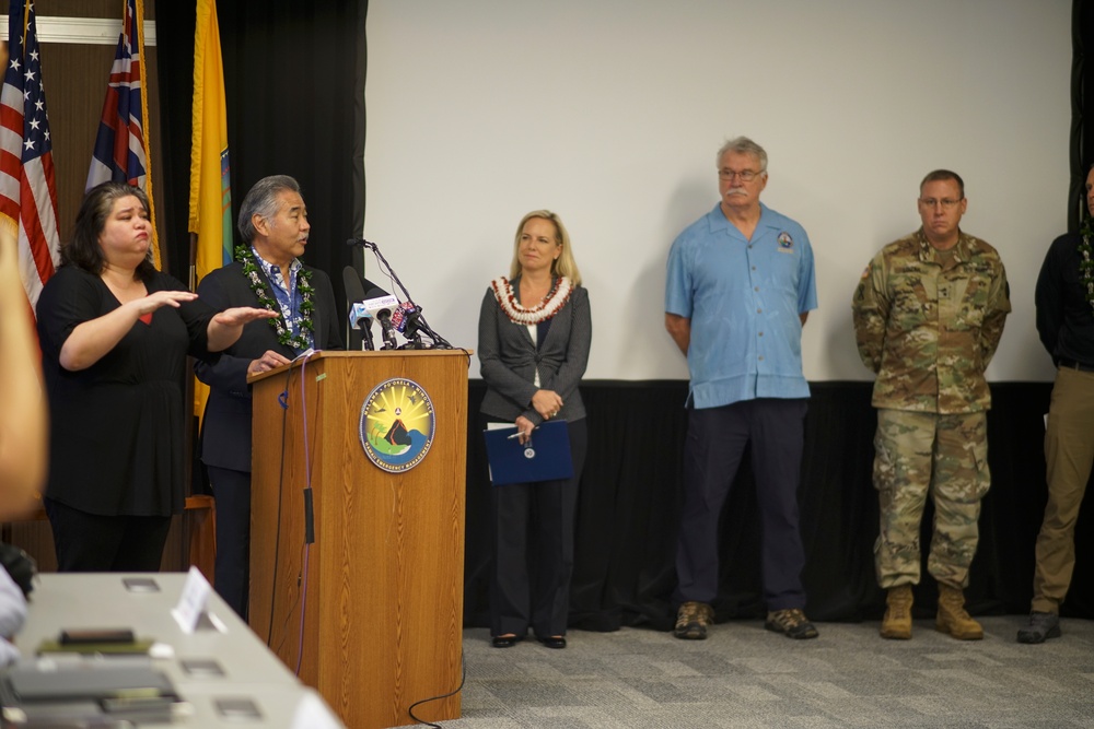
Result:
<svg viewBox="0 0 1094 729">
<path fill-rule="evenodd" d="M 491 642 L 510 648 L 528 628 L 566 648 L 578 483 L 585 461 L 585 408 L 578 385 L 589 362 L 589 294 L 562 221 L 547 210 L 516 227 L 509 277 L 494 279 L 479 314 L 487 385 L 481 425 L 515 424 L 523 444 L 548 420 L 567 421 L 573 477 L 493 489 Z M 534 574 L 533 574 L 534 566 Z"/>
</svg>

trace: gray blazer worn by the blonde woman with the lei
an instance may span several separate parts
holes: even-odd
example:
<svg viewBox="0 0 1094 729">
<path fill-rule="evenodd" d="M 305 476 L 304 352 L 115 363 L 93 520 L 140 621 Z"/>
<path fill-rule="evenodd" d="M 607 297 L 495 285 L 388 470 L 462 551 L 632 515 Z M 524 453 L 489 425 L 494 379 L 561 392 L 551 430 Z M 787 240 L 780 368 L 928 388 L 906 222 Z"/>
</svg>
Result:
<svg viewBox="0 0 1094 729">
<path fill-rule="evenodd" d="M 513 292 L 520 296 L 520 277 L 513 280 Z M 479 313 L 479 373 L 486 380 L 482 413 L 504 422 L 524 415 L 538 425 L 543 418 L 532 407 L 537 389 L 554 390 L 562 398 L 562 409 L 555 420 L 581 420 L 585 405 L 578 385 L 589 364 L 593 324 L 589 314 L 589 293 L 574 286 L 570 299 L 555 315 L 547 338 L 536 349 L 526 326 L 505 316 L 487 289 Z M 539 387 L 535 373 L 539 372 Z"/>
</svg>

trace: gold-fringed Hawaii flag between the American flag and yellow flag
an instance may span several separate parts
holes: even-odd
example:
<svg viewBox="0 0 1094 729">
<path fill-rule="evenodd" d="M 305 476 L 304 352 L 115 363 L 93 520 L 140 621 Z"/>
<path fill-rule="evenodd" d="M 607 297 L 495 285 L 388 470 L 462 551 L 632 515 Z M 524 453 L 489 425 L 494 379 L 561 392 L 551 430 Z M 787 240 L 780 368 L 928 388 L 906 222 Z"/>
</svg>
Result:
<svg viewBox="0 0 1094 729">
<path fill-rule="evenodd" d="M 121 35 L 114 54 L 110 81 L 103 102 L 102 121 L 95 138 L 95 152 L 88 172 L 90 190 L 100 183 L 129 183 L 148 195 L 149 215 L 152 220 L 152 256 L 160 268 L 160 242 L 155 232 L 155 203 L 152 201 L 152 174 L 144 119 L 148 118 L 148 99 L 144 97 L 143 0 L 125 0 Z"/>
</svg>

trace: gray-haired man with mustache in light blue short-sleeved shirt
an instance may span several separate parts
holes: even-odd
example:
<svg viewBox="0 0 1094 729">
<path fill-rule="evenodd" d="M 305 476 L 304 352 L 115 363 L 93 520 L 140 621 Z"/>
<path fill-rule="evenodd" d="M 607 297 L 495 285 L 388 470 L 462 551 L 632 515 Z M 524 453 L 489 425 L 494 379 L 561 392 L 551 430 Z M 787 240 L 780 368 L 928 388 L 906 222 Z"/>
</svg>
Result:
<svg viewBox="0 0 1094 729">
<path fill-rule="evenodd" d="M 718 522 L 748 447 L 761 519 L 765 627 L 813 638 L 798 528 L 810 395 L 802 327 L 817 305 L 813 249 L 801 225 L 760 203 L 761 146 L 737 137 L 717 162 L 721 200 L 673 243 L 665 285 L 665 327 L 691 374 L 674 633 L 701 639 L 713 622 Z"/>
</svg>

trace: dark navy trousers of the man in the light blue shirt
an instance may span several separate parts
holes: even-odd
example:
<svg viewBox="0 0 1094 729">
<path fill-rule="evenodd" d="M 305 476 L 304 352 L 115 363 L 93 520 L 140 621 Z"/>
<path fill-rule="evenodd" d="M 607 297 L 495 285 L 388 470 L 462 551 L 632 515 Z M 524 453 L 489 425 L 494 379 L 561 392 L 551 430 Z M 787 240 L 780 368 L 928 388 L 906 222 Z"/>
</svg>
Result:
<svg viewBox="0 0 1094 729">
<path fill-rule="evenodd" d="M 798 486 L 806 408 L 803 399 L 765 398 L 688 411 L 676 551 L 677 603 L 709 603 L 718 595 L 719 519 L 747 447 L 756 472 L 767 609 L 805 607 Z"/>
</svg>

